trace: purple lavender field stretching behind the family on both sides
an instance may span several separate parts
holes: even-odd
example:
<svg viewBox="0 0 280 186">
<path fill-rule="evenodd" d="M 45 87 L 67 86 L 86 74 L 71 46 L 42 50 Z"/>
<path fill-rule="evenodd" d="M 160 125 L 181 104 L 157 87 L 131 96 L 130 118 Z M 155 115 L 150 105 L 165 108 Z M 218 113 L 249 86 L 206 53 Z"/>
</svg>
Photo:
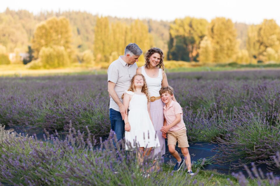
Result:
<svg viewBox="0 0 280 186">
<path fill-rule="evenodd" d="M 220 164 L 265 163 L 280 170 L 279 70 L 168 73 L 167 78 L 183 107 L 190 142 L 217 143 L 214 159 Z M 69 134 L 74 128 L 84 132 L 80 138 L 91 134 L 99 143 L 110 133 L 108 105 L 106 75 L 0 78 L 0 124 L 29 135 L 43 129 Z"/>
</svg>

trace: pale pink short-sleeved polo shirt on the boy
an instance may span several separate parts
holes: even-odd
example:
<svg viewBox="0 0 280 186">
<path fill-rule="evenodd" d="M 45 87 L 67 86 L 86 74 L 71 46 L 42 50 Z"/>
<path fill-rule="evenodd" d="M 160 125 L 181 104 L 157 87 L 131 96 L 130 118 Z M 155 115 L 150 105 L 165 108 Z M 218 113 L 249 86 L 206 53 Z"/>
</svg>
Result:
<svg viewBox="0 0 280 186">
<path fill-rule="evenodd" d="M 167 125 L 170 125 L 176 119 L 176 114 L 181 114 L 181 121 L 174 127 L 170 128 L 169 131 L 187 130 L 183 121 L 183 111 L 180 104 L 172 100 L 168 108 L 164 105 L 163 114 L 167 121 Z"/>
</svg>

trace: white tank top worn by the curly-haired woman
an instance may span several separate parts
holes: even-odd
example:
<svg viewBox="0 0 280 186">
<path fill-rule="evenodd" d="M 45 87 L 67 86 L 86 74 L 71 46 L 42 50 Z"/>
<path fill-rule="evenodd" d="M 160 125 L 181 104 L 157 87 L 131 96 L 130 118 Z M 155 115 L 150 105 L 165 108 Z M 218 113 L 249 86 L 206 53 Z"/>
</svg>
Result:
<svg viewBox="0 0 280 186">
<path fill-rule="evenodd" d="M 160 88 L 161 88 L 161 82 L 162 82 L 162 70 L 161 68 L 158 71 L 158 76 L 156 78 L 150 78 L 145 71 L 145 67 L 141 67 L 141 73 L 144 75 L 147 86 L 149 89 L 150 96 L 159 97 L 160 96 Z"/>
</svg>

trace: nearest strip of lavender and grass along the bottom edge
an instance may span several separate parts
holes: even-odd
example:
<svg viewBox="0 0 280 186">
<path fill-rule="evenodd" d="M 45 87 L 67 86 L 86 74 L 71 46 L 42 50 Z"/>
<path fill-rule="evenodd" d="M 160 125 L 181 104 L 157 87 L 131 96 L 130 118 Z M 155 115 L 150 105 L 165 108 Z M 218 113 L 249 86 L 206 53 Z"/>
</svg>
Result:
<svg viewBox="0 0 280 186">
<path fill-rule="evenodd" d="M 71 128 L 71 127 L 70 127 Z M 88 137 L 84 140 L 85 133 Z M 166 168 L 159 160 L 160 170 L 146 172 L 153 166 L 153 158 L 144 159 L 137 166 L 135 154 L 120 148 L 121 143 L 113 144 L 116 136 L 110 133 L 101 146 L 95 148 L 96 140 L 90 131 L 81 133 L 74 128 L 69 130 L 64 140 L 57 138 L 58 133 L 46 132 L 44 141 L 37 140 L 36 135 L 23 136 L 6 132 L 0 125 L 0 185 L 218 185 L 212 179 L 213 174 L 196 180 L 199 169 L 194 168 L 194 176 L 186 174 L 186 168 L 180 172 Z M 122 142 L 122 146 L 124 146 Z M 279 164 L 280 155 L 277 154 Z M 205 159 L 200 166 L 203 166 Z M 253 165 L 253 164 L 252 164 Z M 165 170 L 164 170 L 165 169 Z M 280 178 L 273 173 L 264 174 L 253 165 L 251 170 L 245 166 L 250 182 L 241 172 L 232 173 L 237 180 L 228 178 L 225 185 L 279 185 Z M 251 173 L 253 172 L 253 174 Z M 254 175 L 254 176 L 253 176 Z M 205 177 L 205 175 L 204 175 Z M 255 179 L 256 178 L 256 179 Z M 262 180 L 266 178 L 266 180 Z"/>
</svg>

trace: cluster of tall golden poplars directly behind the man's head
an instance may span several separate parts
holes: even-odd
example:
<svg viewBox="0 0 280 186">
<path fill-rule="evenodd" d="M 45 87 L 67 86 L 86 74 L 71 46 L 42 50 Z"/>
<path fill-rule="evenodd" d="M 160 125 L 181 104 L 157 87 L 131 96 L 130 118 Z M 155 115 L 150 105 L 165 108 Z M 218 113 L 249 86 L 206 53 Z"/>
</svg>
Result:
<svg viewBox="0 0 280 186">
<path fill-rule="evenodd" d="M 141 37 L 140 37 L 141 36 Z M 153 46 L 153 37 L 149 34 L 148 26 L 141 20 L 135 20 L 131 25 L 120 22 L 109 24 L 107 17 L 97 18 L 95 26 L 94 54 L 95 60 L 112 62 L 124 53 L 129 43 L 136 43 L 145 53 Z M 139 61 L 143 61 L 143 56 Z"/>
</svg>

